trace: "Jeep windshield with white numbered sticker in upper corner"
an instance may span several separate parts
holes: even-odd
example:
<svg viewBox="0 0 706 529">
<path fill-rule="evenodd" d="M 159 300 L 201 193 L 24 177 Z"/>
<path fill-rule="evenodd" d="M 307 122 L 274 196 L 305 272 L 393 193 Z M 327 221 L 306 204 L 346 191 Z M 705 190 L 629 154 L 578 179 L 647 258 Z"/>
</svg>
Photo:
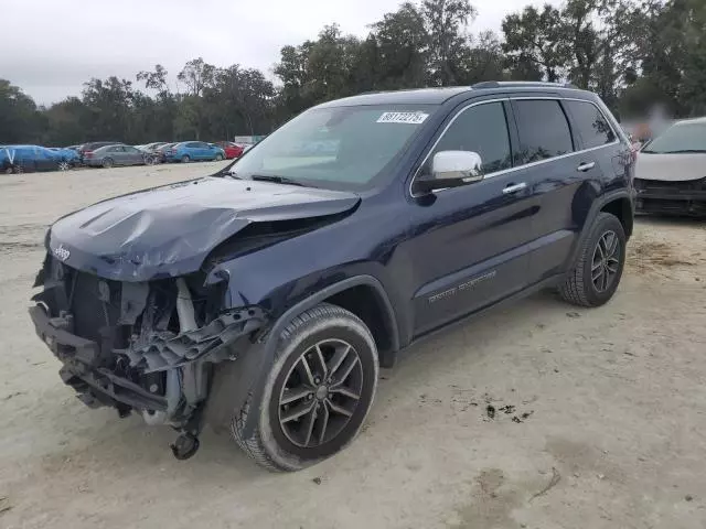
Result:
<svg viewBox="0 0 706 529">
<path fill-rule="evenodd" d="M 272 132 L 228 172 L 240 179 L 269 177 L 320 187 L 372 187 L 436 108 L 314 108 Z"/>
</svg>

